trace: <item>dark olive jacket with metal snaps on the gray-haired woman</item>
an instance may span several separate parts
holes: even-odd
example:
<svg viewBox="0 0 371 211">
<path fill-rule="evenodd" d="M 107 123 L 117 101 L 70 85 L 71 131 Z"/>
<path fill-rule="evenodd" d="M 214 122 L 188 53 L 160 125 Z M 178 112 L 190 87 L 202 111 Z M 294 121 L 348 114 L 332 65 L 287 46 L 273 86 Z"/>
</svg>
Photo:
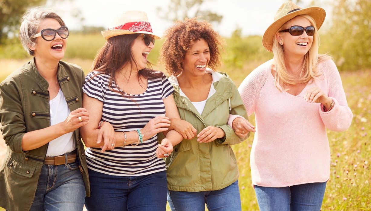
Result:
<svg viewBox="0 0 371 211">
<path fill-rule="evenodd" d="M 82 84 L 85 74 L 78 66 L 59 62 L 58 81 L 71 111 L 82 107 Z M 7 145 L 0 168 L 0 207 L 29 210 L 49 144 L 35 150 L 22 150 L 22 137 L 29 131 L 50 126 L 47 81 L 39 74 L 32 59 L 0 84 L 1 131 Z M 83 169 L 86 195 L 90 196 L 85 150 L 75 130 L 78 157 Z M 73 191 L 73 190 L 71 190 Z"/>
</svg>

